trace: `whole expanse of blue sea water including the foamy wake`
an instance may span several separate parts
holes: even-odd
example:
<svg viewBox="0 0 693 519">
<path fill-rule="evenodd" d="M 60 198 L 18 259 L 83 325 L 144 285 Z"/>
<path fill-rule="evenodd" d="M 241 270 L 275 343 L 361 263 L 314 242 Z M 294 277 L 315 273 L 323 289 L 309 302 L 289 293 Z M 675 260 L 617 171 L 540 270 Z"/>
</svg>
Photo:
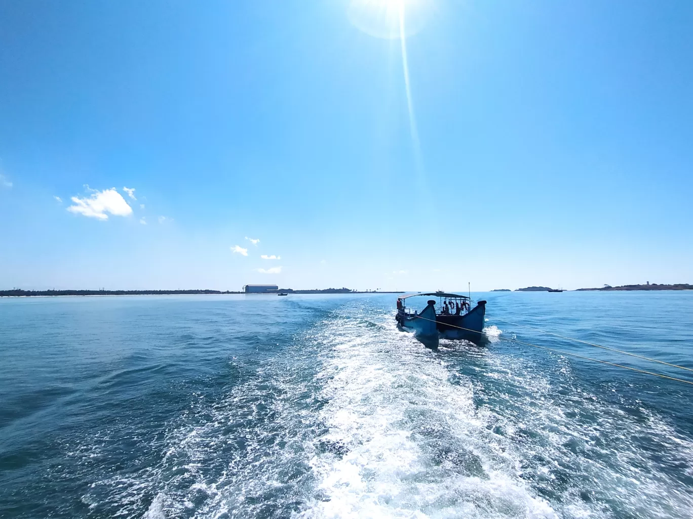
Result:
<svg viewBox="0 0 693 519">
<path fill-rule="evenodd" d="M 0 300 L 3 518 L 690 518 L 693 293 Z M 513 324 L 509 324 L 509 322 Z M 663 369 L 664 368 L 664 369 Z"/>
</svg>

